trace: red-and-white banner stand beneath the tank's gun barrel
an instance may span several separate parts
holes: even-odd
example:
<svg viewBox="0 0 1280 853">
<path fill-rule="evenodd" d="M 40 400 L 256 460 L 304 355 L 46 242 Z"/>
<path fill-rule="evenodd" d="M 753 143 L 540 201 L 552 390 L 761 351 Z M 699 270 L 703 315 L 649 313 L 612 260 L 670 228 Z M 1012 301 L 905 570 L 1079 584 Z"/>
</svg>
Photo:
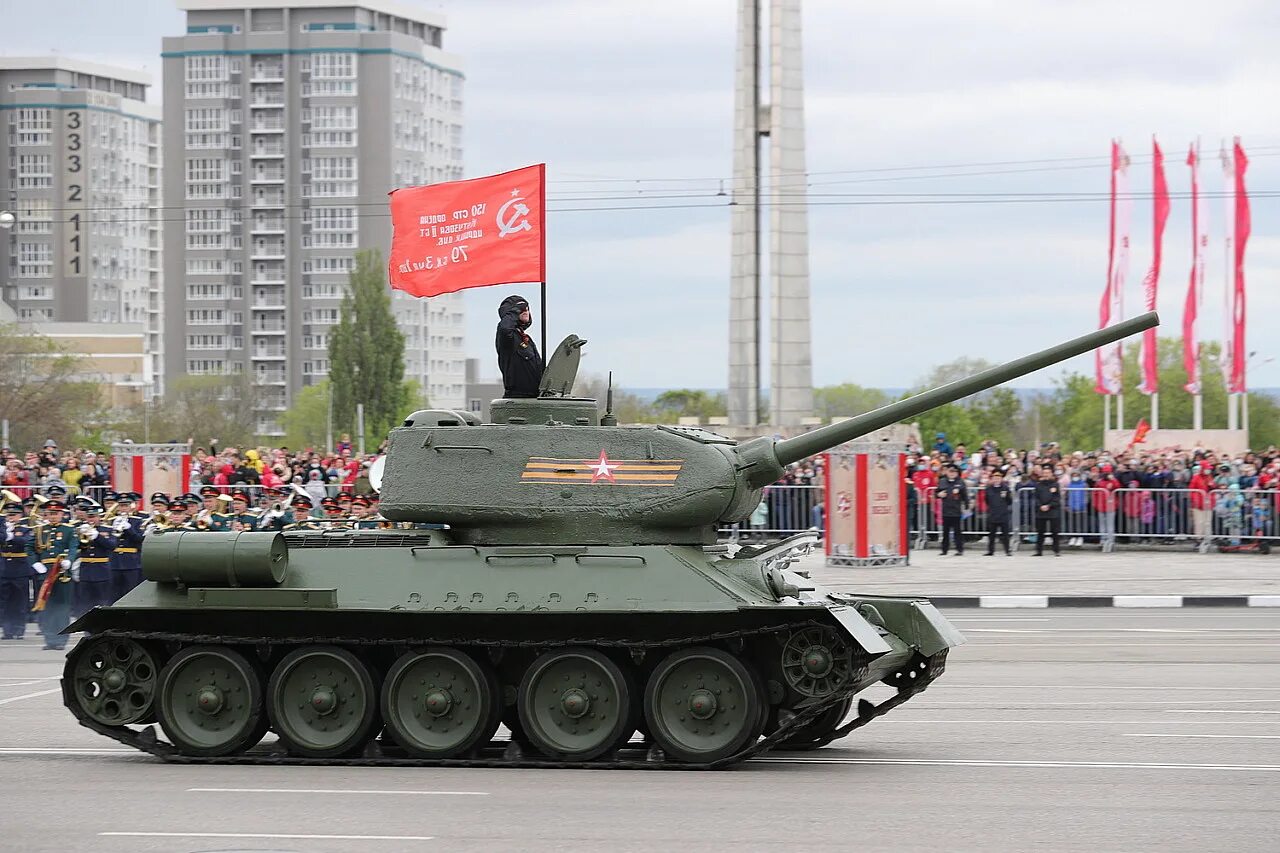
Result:
<svg viewBox="0 0 1280 853">
<path fill-rule="evenodd" d="M 910 562 L 906 451 L 901 442 L 849 442 L 826 455 L 828 566 Z"/>
</svg>

